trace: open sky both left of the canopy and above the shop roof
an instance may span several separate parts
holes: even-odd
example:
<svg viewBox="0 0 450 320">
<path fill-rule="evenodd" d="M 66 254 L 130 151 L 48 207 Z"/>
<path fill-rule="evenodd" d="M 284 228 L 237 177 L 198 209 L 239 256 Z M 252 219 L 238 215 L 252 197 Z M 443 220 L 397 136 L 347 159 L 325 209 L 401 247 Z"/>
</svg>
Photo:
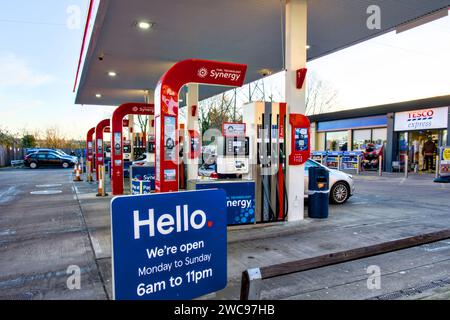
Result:
<svg viewBox="0 0 450 320">
<path fill-rule="evenodd" d="M 114 107 L 74 105 L 87 7 L 88 0 L 0 2 L 0 128 L 20 135 L 57 127 L 83 139 L 111 115 Z M 68 12 L 73 8 L 80 12 L 78 27 Z M 308 68 L 338 92 L 338 110 L 450 94 L 449 57 L 446 17 L 313 60 Z"/>
</svg>

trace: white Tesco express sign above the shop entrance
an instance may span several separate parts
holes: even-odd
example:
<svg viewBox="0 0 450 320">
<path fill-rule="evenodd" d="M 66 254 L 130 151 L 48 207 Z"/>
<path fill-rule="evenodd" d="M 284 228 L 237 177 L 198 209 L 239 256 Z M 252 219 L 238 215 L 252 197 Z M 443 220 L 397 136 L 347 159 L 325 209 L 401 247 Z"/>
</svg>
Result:
<svg viewBox="0 0 450 320">
<path fill-rule="evenodd" d="M 395 131 L 442 129 L 448 125 L 448 107 L 395 114 Z"/>
</svg>

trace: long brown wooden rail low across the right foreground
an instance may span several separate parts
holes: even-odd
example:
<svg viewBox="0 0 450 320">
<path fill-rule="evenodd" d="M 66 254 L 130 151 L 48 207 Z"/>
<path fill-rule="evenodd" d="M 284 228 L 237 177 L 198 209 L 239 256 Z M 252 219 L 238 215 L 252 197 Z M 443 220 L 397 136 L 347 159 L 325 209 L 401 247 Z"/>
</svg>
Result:
<svg viewBox="0 0 450 320">
<path fill-rule="evenodd" d="M 361 247 L 346 251 L 325 254 L 313 258 L 262 267 L 260 268 L 260 270 L 262 279 L 269 279 L 273 277 L 288 275 L 291 273 L 372 257 L 397 250 L 412 248 L 431 242 L 445 240 L 448 238 L 450 238 L 450 230 L 449 229 L 441 230 L 409 238 L 403 238 L 380 244 L 375 244 L 367 247 Z"/>
</svg>

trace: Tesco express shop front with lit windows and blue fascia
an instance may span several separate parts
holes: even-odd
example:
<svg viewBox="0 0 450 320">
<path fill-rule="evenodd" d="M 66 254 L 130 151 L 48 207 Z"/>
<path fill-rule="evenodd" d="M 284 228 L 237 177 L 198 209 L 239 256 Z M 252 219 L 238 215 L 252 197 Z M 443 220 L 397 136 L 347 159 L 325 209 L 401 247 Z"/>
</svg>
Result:
<svg viewBox="0 0 450 320">
<path fill-rule="evenodd" d="M 314 151 L 383 148 L 385 171 L 434 170 L 440 147 L 449 146 L 450 96 L 310 116 Z"/>
</svg>

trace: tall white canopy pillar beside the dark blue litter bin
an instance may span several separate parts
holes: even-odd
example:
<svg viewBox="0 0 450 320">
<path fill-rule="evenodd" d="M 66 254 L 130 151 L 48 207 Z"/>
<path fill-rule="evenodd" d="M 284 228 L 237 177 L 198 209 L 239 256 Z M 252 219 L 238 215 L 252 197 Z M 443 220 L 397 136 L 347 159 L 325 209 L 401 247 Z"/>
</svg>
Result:
<svg viewBox="0 0 450 320">
<path fill-rule="evenodd" d="M 306 109 L 306 90 L 296 88 L 296 70 L 306 67 L 307 45 L 307 0 L 286 1 L 286 103 L 288 114 L 304 114 Z M 291 154 L 291 132 L 287 131 L 288 155 Z M 305 171 L 302 166 L 287 166 L 288 180 L 288 221 L 304 218 L 304 179 Z"/>
</svg>

